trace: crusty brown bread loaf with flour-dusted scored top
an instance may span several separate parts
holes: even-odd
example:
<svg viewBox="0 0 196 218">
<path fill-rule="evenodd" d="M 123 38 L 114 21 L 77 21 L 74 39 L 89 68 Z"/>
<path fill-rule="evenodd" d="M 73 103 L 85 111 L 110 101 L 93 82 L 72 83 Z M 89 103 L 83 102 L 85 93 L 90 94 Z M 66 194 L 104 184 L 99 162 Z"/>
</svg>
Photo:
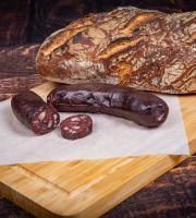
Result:
<svg viewBox="0 0 196 218">
<path fill-rule="evenodd" d="M 89 14 L 49 36 L 36 64 L 42 77 L 60 83 L 196 93 L 196 12 L 126 7 Z"/>
</svg>

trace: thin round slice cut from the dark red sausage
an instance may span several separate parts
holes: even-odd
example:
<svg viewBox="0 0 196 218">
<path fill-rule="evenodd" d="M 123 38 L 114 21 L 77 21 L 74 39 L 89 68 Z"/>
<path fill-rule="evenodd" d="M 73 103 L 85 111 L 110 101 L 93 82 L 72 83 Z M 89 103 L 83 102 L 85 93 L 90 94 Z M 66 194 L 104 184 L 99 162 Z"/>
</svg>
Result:
<svg viewBox="0 0 196 218">
<path fill-rule="evenodd" d="M 93 131 L 93 120 L 86 114 L 71 116 L 60 124 L 61 135 L 66 140 L 77 140 L 89 135 Z"/>
</svg>

